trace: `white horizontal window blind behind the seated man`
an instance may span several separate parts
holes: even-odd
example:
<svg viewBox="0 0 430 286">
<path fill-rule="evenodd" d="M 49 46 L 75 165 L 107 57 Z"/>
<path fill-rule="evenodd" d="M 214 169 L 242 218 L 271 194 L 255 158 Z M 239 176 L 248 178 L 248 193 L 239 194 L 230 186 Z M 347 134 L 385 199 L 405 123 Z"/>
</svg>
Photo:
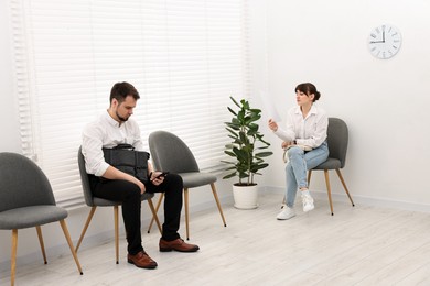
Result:
<svg viewBox="0 0 430 286">
<path fill-rule="evenodd" d="M 171 131 L 202 170 L 221 169 L 229 96 L 248 94 L 246 1 L 10 1 L 22 148 L 60 206 L 83 204 L 80 133 L 117 81 L 141 95 L 144 142 Z"/>
</svg>

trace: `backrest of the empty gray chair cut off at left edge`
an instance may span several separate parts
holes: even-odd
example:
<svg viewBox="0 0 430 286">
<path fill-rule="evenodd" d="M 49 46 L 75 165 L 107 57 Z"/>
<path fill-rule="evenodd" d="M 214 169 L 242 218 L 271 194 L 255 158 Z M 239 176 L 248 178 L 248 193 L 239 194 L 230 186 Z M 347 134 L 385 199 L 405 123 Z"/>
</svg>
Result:
<svg viewBox="0 0 430 286">
<path fill-rule="evenodd" d="M 17 153 L 0 153 L 0 211 L 53 205 L 54 194 L 43 170 Z"/>
</svg>

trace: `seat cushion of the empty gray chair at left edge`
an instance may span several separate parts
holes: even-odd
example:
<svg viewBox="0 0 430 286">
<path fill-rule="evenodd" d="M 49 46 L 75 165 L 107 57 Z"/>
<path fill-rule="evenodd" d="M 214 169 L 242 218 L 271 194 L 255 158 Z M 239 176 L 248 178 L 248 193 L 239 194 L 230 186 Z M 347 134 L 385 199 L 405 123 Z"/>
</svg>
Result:
<svg viewBox="0 0 430 286">
<path fill-rule="evenodd" d="M 57 206 L 31 206 L 0 212 L 0 229 L 25 229 L 67 218 L 67 210 Z"/>
</svg>

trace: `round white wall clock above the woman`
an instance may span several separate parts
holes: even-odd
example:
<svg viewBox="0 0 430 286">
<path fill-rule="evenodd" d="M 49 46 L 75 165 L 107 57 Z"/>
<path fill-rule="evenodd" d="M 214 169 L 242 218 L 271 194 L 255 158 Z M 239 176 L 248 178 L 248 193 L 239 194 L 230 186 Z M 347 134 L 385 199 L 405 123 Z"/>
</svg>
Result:
<svg viewBox="0 0 430 286">
<path fill-rule="evenodd" d="M 367 44 L 372 55 L 377 58 L 387 59 L 399 52 L 401 34 L 393 25 L 380 25 L 370 32 Z"/>
</svg>

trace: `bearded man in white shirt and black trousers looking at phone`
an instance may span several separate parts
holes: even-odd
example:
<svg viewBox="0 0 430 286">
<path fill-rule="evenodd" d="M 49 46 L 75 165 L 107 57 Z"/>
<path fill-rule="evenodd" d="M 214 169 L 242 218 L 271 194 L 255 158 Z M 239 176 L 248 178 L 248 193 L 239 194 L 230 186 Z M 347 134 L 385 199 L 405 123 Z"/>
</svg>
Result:
<svg viewBox="0 0 430 286">
<path fill-rule="evenodd" d="M 161 252 L 196 252 L 197 245 L 185 243 L 178 234 L 182 209 L 182 178 L 176 174 L 160 176 L 148 163 L 149 182 L 143 184 L 136 177 L 106 163 L 103 147 L 115 147 L 121 143 L 131 144 L 143 151 L 138 123 L 130 119 L 140 98 L 137 89 L 128 82 L 117 82 L 110 91 L 110 107 L 83 132 L 82 151 L 85 167 L 90 174 L 94 196 L 121 201 L 126 227 L 129 263 L 141 268 L 155 268 L 153 261 L 143 250 L 140 233 L 141 194 L 165 193 L 164 223 L 159 248 Z M 100 179 L 100 178 L 104 179 Z"/>
</svg>

